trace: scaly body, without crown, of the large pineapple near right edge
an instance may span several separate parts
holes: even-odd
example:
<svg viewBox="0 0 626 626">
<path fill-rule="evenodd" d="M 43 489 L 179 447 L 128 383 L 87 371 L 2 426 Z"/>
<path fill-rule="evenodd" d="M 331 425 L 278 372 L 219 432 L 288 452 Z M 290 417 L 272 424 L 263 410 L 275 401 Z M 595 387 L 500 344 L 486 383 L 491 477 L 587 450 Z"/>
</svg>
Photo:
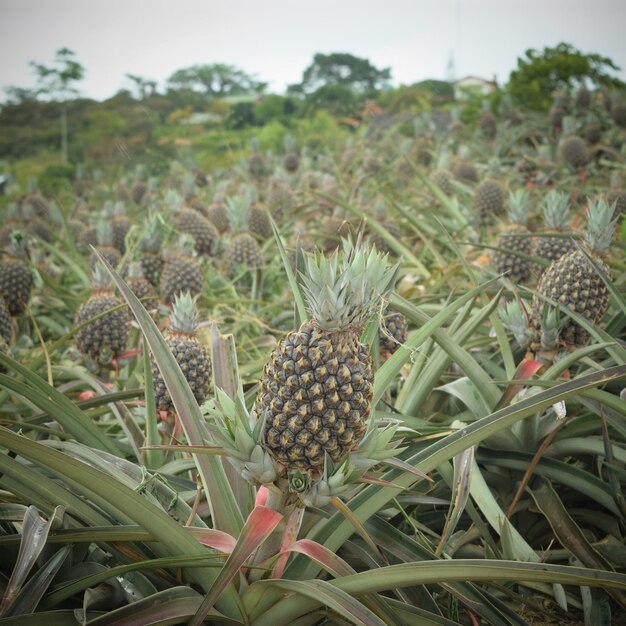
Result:
<svg viewBox="0 0 626 626">
<path fill-rule="evenodd" d="M 602 259 L 594 261 L 609 274 L 609 268 Z M 542 274 L 537 292 L 568 306 L 593 324 L 598 324 L 609 306 L 609 290 L 604 281 L 589 263 L 581 250 L 573 250 L 563 255 Z M 539 317 L 543 301 L 533 299 L 533 325 L 539 328 Z M 589 340 L 589 333 L 579 324 L 566 318 L 562 325 L 561 341 L 572 347 L 583 346 Z"/>
</svg>

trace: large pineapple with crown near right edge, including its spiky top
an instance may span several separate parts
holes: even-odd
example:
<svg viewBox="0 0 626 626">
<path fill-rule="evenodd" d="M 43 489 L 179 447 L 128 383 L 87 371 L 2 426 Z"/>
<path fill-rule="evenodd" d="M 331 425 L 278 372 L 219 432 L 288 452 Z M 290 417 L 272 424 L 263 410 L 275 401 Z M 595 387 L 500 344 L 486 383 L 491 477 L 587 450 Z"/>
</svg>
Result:
<svg viewBox="0 0 626 626">
<path fill-rule="evenodd" d="M 544 271 L 537 285 L 537 295 L 533 298 L 531 328 L 538 329 L 544 300 L 551 298 L 559 305 L 565 305 L 598 324 L 609 306 L 609 290 L 591 265 L 585 252 L 607 275 L 610 273 L 603 256 L 608 253 L 615 223 L 614 205 L 605 200 L 590 201 L 587 208 L 587 233 L 583 250 L 575 248 L 553 261 Z M 572 319 L 566 319 L 561 329 L 561 341 L 572 348 L 583 346 L 589 340 L 589 333 Z"/>
</svg>

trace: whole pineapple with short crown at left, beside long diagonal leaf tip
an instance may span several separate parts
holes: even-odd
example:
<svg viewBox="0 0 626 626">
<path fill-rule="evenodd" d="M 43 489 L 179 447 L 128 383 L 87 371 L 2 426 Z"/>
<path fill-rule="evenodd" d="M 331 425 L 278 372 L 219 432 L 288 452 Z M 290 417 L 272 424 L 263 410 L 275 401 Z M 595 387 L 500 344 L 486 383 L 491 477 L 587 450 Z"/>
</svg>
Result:
<svg viewBox="0 0 626 626">
<path fill-rule="evenodd" d="M 105 365 L 124 352 L 130 315 L 128 307 L 120 307 L 123 304 L 123 300 L 114 295 L 105 268 L 102 264 L 96 265 L 92 273 L 91 295 L 74 316 L 74 326 L 88 322 L 76 333 L 76 347 L 81 354 Z"/>
</svg>

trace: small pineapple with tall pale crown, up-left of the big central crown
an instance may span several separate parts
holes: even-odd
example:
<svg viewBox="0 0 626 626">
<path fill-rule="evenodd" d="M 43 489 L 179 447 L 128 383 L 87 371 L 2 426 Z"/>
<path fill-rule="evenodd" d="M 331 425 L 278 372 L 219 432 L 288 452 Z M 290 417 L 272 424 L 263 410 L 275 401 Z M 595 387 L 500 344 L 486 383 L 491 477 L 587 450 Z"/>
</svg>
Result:
<svg viewBox="0 0 626 626">
<path fill-rule="evenodd" d="M 248 270 L 262 269 L 265 265 L 259 242 L 249 230 L 250 205 L 246 198 L 237 196 L 226 199 L 233 233 L 226 251 L 224 262 L 226 274 L 234 278 L 241 268 Z"/>
</svg>

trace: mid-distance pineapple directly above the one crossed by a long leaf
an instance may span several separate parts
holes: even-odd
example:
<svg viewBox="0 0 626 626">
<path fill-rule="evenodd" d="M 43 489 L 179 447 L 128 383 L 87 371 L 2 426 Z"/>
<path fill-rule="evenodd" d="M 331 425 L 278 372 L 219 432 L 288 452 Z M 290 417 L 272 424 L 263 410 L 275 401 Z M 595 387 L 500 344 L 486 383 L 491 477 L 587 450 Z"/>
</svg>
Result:
<svg viewBox="0 0 626 626">
<path fill-rule="evenodd" d="M 204 289 L 204 276 L 195 258 L 195 241 L 190 235 L 181 235 L 171 249 L 161 272 L 161 296 L 172 304 L 177 295 L 188 291 L 192 296 Z"/>
</svg>

